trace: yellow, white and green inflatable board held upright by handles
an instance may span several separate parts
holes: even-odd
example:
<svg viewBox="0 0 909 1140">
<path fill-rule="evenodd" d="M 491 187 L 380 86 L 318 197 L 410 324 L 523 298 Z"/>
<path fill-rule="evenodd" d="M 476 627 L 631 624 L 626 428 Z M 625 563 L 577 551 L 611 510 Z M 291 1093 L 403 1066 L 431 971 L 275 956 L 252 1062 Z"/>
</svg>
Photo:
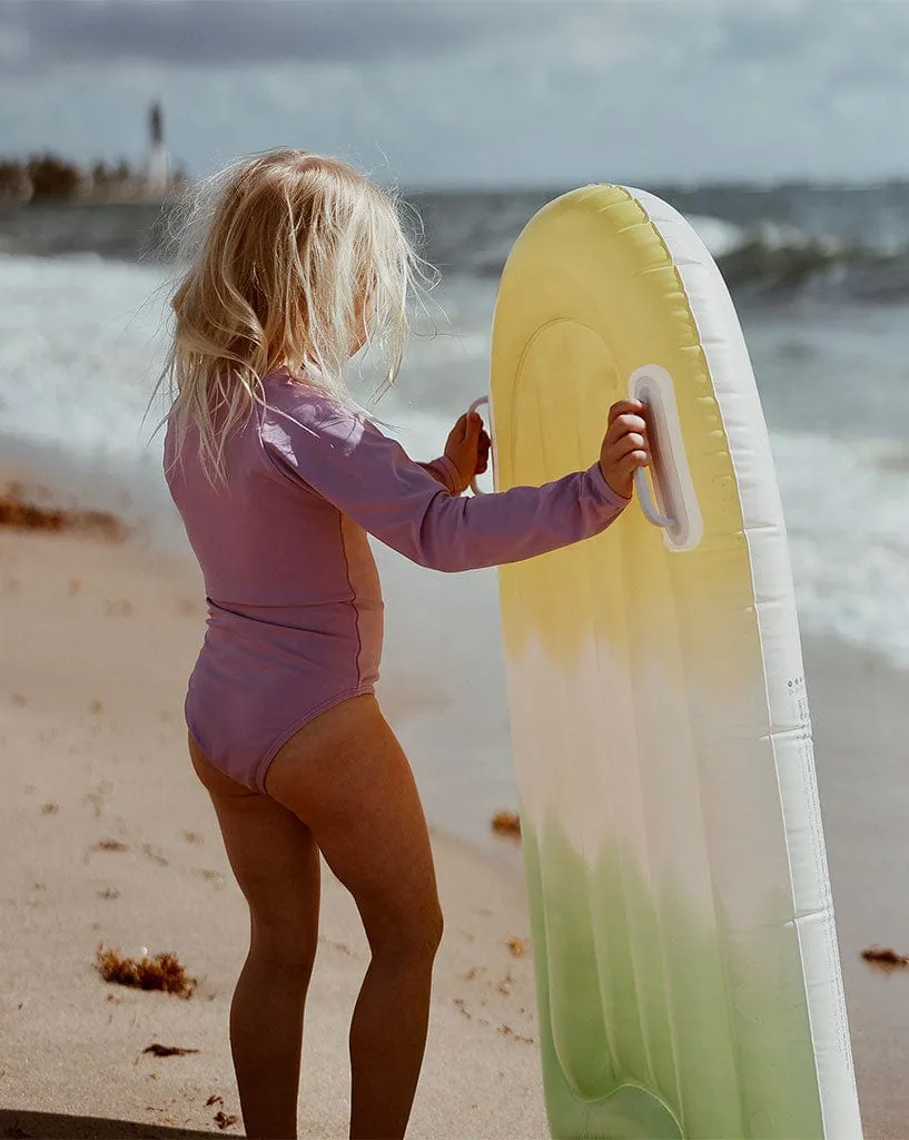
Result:
<svg viewBox="0 0 909 1140">
<path fill-rule="evenodd" d="M 859 1140 L 747 351 L 682 217 L 588 187 L 541 210 L 505 268 L 497 488 L 588 467 L 629 393 L 649 407 L 650 519 L 632 505 L 606 534 L 500 571 L 550 1127 Z"/>
</svg>

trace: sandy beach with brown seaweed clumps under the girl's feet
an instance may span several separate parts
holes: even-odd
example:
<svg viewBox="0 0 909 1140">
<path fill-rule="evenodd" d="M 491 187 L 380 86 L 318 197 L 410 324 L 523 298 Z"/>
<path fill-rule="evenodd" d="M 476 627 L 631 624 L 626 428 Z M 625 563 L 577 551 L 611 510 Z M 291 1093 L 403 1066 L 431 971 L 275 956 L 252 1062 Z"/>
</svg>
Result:
<svg viewBox="0 0 909 1140">
<path fill-rule="evenodd" d="M 202 625 L 182 562 L 141 543 L 0 529 L 0 1135 L 241 1133 L 227 1016 L 246 912 L 181 720 Z M 809 643 L 806 660 L 866 1135 L 900 1140 L 909 975 L 860 955 L 909 951 L 906 676 L 833 642 Z M 447 933 L 413 1138 L 547 1135 L 506 842 L 481 852 L 434 831 Z M 105 983 L 99 944 L 172 951 L 197 988 L 182 1000 Z M 365 966 L 355 912 L 326 872 L 304 1137 L 345 1134 Z M 153 1044 L 198 1051 L 156 1057 Z"/>
</svg>

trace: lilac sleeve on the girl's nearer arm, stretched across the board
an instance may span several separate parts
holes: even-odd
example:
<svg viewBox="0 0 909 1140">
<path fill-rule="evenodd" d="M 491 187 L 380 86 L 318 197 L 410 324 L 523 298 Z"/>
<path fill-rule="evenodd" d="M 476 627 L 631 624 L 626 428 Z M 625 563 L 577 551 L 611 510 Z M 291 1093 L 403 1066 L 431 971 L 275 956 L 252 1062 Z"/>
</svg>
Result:
<svg viewBox="0 0 909 1140">
<path fill-rule="evenodd" d="M 277 472 L 434 570 L 546 554 L 605 530 L 629 502 L 612 490 L 599 464 L 543 487 L 461 498 L 452 494 L 454 477 L 445 489 L 374 424 L 312 392 L 292 407 L 265 409 L 261 434 Z"/>
</svg>

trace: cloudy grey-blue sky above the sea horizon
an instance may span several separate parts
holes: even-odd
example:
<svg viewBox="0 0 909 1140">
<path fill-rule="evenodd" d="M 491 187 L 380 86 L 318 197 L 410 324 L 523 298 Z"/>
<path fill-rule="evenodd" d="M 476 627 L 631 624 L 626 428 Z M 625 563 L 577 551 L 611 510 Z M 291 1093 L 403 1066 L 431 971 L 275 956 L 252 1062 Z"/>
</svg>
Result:
<svg viewBox="0 0 909 1140">
<path fill-rule="evenodd" d="M 907 0 L 0 0 L 0 154 L 415 186 L 909 174 Z"/>
</svg>

